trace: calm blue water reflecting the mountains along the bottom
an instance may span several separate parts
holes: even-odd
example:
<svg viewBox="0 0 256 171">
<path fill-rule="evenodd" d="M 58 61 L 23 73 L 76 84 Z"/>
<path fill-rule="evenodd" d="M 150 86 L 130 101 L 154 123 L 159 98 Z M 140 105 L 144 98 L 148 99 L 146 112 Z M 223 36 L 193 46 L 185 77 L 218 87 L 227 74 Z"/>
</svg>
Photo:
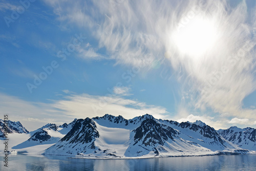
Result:
<svg viewBox="0 0 256 171">
<path fill-rule="evenodd" d="M 95 160 L 18 154 L 9 156 L 8 169 L 2 158 L 0 170 L 256 170 L 256 155 Z"/>
</svg>

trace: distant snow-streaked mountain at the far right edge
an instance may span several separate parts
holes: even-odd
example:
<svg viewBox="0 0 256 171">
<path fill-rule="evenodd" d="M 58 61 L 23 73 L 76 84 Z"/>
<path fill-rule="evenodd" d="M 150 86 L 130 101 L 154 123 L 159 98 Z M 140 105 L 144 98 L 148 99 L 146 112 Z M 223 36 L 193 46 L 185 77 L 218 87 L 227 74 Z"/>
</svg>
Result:
<svg viewBox="0 0 256 171">
<path fill-rule="evenodd" d="M 241 148 L 256 151 L 256 129 L 251 127 L 240 129 L 237 126 L 231 126 L 227 130 L 218 130 L 218 133 Z"/>
</svg>

